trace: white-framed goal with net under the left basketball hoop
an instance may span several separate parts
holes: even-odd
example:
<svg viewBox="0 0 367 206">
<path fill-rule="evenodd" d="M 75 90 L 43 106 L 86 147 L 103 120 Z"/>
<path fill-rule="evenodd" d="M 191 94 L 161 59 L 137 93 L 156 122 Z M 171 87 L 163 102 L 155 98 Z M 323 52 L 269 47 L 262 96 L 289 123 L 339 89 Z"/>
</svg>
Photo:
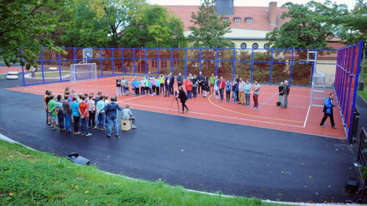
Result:
<svg viewBox="0 0 367 206">
<path fill-rule="evenodd" d="M 70 65 L 70 81 L 89 80 L 97 78 L 96 63 L 72 64 Z"/>
</svg>

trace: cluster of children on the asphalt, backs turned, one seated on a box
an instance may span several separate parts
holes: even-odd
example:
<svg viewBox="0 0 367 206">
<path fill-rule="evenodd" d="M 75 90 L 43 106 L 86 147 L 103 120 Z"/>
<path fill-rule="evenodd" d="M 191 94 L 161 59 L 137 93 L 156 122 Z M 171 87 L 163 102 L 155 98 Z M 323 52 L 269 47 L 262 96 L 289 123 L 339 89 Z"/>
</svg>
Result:
<svg viewBox="0 0 367 206">
<path fill-rule="evenodd" d="M 44 95 L 44 106 L 46 109 L 46 122 L 51 129 L 59 129 L 74 135 L 91 136 L 88 128 L 106 130 L 108 125 L 108 135 L 111 136 L 112 126 L 115 127 L 116 136 L 119 136 L 117 128 L 117 110 L 122 110 L 122 116 L 133 121 L 132 129 L 136 129 L 135 118 L 132 116 L 129 106 L 121 108 L 116 103 L 116 97 L 112 96 L 108 100 L 108 95 L 98 92 L 94 98 L 93 93 L 77 94 L 76 91 L 68 87 L 65 88 L 64 95 L 55 96 L 50 90 L 46 90 Z M 126 114 L 125 114 L 126 113 Z M 97 116 L 98 124 L 95 125 Z M 71 129 L 71 123 L 73 129 Z M 81 131 L 79 131 L 81 126 Z"/>
</svg>

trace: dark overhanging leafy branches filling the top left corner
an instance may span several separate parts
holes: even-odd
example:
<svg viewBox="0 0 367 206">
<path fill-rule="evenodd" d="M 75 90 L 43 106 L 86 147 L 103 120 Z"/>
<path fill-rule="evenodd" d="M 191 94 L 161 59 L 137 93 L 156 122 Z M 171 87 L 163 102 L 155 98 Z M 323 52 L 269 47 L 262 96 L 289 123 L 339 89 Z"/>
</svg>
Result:
<svg viewBox="0 0 367 206">
<path fill-rule="evenodd" d="M 59 26 L 58 21 L 64 0 L 0 0 L 0 56 L 4 62 L 24 63 L 36 66 L 41 46 L 54 47 L 51 33 Z M 22 50 L 22 52 L 20 52 Z"/>
</svg>

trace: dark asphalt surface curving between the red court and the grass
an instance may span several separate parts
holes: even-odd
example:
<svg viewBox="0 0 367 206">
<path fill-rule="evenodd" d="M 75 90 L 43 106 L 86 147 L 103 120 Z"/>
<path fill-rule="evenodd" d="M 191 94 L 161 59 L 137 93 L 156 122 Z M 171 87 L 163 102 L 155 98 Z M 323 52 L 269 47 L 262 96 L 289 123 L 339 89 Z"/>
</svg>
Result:
<svg viewBox="0 0 367 206">
<path fill-rule="evenodd" d="M 0 80 L 0 88 L 21 84 Z M 344 186 L 356 169 L 345 140 L 142 110 L 132 110 L 138 129 L 120 139 L 100 130 L 75 136 L 46 126 L 42 96 L 5 89 L 0 96 L 0 133 L 60 157 L 77 152 L 101 170 L 275 201 L 351 199 Z"/>
</svg>

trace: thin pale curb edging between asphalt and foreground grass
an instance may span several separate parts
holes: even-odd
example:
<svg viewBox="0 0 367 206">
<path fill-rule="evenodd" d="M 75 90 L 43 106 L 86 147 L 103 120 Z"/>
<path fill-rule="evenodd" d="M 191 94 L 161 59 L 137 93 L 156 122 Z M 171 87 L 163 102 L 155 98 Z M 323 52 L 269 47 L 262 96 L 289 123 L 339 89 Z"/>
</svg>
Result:
<svg viewBox="0 0 367 206">
<path fill-rule="evenodd" d="M 24 144 L 21 144 L 21 143 L 19 143 L 17 141 L 14 141 L 14 140 L 10 139 L 9 137 L 2 135 L 1 133 L 0 133 L 0 140 L 4 140 L 4 141 L 7 141 L 8 143 L 12 143 L 12 144 L 20 144 L 23 147 L 28 148 L 29 150 L 37 151 L 37 150 L 34 150 L 31 147 L 28 147 L 28 146 L 26 146 Z M 100 170 L 100 171 L 105 172 L 103 170 Z M 120 174 L 114 174 L 114 173 L 110 173 L 110 172 L 105 172 L 105 173 L 106 174 L 109 174 L 109 175 L 113 175 L 113 176 L 120 176 L 120 177 L 123 177 L 123 178 L 128 179 L 128 180 L 148 182 L 148 181 L 145 181 L 145 180 L 134 179 L 134 178 L 131 178 L 131 177 L 123 176 L 123 175 L 120 175 Z M 172 187 L 172 188 L 175 188 L 174 186 L 170 186 L 170 185 L 168 185 L 168 186 L 169 187 Z M 196 193 L 205 194 L 205 195 L 212 195 L 212 196 L 222 196 L 222 197 L 225 197 L 225 198 L 235 198 L 235 197 L 239 197 L 240 198 L 241 197 L 241 196 L 231 196 L 231 195 L 220 195 L 220 194 L 216 194 L 216 193 L 203 192 L 203 191 L 190 190 L 190 189 L 185 189 L 185 190 L 188 191 L 188 192 L 196 192 Z M 244 197 L 244 198 L 246 198 L 246 197 Z M 251 199 L 251 198 L 249 198 L 249 199 Z M 261 201 L 262 202 L 266 202 L 266 203 L 276 203 L 276 204 L 284 204 L 284 205 L 302 205 L 302 206 L 339 206 L 339 205 L 360 206 L 360 205 L 363 205 L 363 204 L 348 204 L 348 203 L 278 202 L 278 201 L 271 201 L 269 199 L 267 199 L 267 200 L 262 199 Z"/>
</svg>

